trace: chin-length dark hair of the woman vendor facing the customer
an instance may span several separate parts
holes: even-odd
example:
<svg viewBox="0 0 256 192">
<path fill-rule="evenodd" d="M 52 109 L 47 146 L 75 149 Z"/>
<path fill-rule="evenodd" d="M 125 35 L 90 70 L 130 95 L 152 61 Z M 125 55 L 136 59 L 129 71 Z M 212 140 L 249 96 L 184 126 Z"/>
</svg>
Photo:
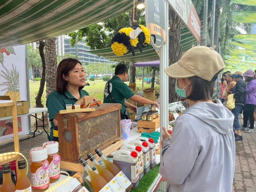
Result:
<svg viewBox="0 0 256 192">
<path fill-rule="evenodd" d="M 82 66 L 79 60 L 73 58 L 63 59 L 62 61 L 60 61 L 56 72 L 57 91 L 61 93 L 65 93 L 67 91 L 68 82 L 65 79 L 63 79 L 63 75 L 68 76 L 69 72 L 76 67 L 77 63 L 80 63 L 80 65 Z M 79 91 L 83 88 L 84 86 L 79 87 Z"/>
</svg>

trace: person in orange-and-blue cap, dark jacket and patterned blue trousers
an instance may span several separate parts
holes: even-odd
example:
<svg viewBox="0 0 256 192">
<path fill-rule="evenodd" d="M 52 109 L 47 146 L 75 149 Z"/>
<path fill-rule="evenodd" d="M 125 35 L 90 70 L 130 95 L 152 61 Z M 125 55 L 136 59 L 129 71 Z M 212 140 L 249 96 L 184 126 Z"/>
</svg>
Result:
<svg viewBox="0 0 256 192">
<path fill-rule="evenodd" d="M 236 73 L 231 76 L 234 78 L 234 81 L 236 82 L 235 87 L 232 89 L 232 94 L 234 94 L 234 99 L 235 99 L 235 108 L 232 109 L 232 113 L 235 117 L 233 128 L 234 128 L 236 141 L 243 140 L 243 137 L 241 134 L 241 126 L 239 124 L 239 119 L 238 119 L 238 116 L 242 112 L 242 109 L 245 103 L 246 83 L 244 81 L 243 75 L 244 75 L 243 72 L 236 71 Z"/>
</svg>

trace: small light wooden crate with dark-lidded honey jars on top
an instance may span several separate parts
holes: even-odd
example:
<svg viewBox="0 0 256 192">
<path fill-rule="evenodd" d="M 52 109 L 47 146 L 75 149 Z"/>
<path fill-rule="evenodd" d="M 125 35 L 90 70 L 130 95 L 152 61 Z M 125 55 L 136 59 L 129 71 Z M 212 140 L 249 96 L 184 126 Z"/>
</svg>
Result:
<svg viewBox="0 0 256 192">
<path fill-rule="evenodd" d="M 138 121 L 138 133 L 153 132 L 160 126 L 160 118 L 156 118 L 153 121 Z"/>
</svg>

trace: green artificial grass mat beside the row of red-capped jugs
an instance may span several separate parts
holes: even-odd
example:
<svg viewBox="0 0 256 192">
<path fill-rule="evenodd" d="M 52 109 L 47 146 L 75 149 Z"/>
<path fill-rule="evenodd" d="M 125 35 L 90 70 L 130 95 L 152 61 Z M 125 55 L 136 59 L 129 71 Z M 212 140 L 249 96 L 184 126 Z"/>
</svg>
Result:
<svg viewBox="0 0 256 192">
<path fill-rule="evenodd" d="M 150 171 L 142 177 L 140 180 L 140 183 L 136 189 L 131 190 L 131 192 L 146 192 L 156 179 L 156 177 L 159 174 L 159 165 L 156 165 L 153 169 L 150 169 Z"/>
</svg>

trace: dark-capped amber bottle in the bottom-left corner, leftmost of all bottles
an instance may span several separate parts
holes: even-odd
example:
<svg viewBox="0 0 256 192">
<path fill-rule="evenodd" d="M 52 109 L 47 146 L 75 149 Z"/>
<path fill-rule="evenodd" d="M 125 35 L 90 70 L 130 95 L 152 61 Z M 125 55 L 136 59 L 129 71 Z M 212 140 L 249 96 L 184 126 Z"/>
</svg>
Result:
<svg viewBox="0 0 256 192">
<path fill-rule="evenodd" d="M 11 166 L 9 163 L 3 164 L 3 184 L 1 192 L 15 192 L 16 187 L 11 178 Z"/>
</svg>

